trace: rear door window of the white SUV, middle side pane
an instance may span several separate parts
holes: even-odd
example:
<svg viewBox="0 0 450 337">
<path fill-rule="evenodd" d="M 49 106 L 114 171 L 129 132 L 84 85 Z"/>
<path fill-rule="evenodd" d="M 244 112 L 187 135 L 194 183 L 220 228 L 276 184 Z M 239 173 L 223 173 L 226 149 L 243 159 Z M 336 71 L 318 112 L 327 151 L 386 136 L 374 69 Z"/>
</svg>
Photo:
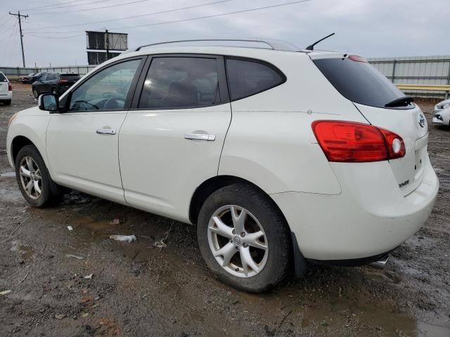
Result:
<svg viewBox="0 0 450 337">
<path fill-rule="evenodd" d="M 153 58 L 139 107 L 175 109 L 220 102 L 215 58 Z"/>
</svg>

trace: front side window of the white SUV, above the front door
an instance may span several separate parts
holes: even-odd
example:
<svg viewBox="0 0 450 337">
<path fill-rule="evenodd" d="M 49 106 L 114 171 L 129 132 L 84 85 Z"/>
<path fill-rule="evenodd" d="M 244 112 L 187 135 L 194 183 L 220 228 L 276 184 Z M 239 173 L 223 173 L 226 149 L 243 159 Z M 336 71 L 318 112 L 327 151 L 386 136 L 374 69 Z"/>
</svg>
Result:
<svg viewBox="0 0 450 337">
<path fill-rule="evenodd" d="M 122 110 L 140 63 L 126 61 L 97 72 L 72 93 L 69 110 Z"/>
</svg>

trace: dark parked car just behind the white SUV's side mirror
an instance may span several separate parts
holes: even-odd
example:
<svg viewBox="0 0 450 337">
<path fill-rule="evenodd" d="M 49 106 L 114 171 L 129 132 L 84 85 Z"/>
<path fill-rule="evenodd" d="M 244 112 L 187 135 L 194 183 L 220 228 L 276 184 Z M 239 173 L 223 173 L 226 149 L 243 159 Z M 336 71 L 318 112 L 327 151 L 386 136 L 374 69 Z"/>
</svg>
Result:
<svg viewBox="0 0 450 337">
<path fill-rule="evenodd" d="M 72 72 L 63 74 L 59 74 L 58 72 L 42 72 L 32 85 L 33 95 L 35 98 L 38 98 L 41 93 L 58 93 L 58 95 L 62 95 L 79 78 L 79 74 Z"/>
</svg>

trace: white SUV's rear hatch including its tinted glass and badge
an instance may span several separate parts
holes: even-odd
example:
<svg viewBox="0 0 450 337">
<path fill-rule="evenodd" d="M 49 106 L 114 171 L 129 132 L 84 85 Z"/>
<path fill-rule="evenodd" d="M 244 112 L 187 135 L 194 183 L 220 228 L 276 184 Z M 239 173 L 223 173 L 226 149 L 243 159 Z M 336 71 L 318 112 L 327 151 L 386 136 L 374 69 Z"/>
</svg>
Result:
<svg viewBox="0 0 450 337">
<path fill-rule="evenodd" d="M 428 126 L 420 107 L 364 58 L 342 54 L 310 56 L 328 81 L 354 103 L 370 124 L 403 138 L 405 156 L 390 160 L 389 164 L 401 192 L 406 195 L 415 190 L 423 179 L 428 156 Z"/>
</svg>

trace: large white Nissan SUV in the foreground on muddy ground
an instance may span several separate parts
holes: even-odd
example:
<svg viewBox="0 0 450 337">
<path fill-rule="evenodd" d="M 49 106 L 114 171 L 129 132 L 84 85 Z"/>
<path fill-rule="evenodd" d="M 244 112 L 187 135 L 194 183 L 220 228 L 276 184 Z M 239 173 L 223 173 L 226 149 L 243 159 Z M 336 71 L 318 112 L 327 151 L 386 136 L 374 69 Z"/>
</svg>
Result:
<svg viewBox="0 0 450 337">
<path fill-rule="evenodd" d="M 207 265 L 252 292 L 409 238 L 439 187 L 427 144 L 364 58 L 281 44 L 143 46 L 41 95 L 7 138 L 32 206 L 70 187 L 196 224 Z"/>
</svg>

